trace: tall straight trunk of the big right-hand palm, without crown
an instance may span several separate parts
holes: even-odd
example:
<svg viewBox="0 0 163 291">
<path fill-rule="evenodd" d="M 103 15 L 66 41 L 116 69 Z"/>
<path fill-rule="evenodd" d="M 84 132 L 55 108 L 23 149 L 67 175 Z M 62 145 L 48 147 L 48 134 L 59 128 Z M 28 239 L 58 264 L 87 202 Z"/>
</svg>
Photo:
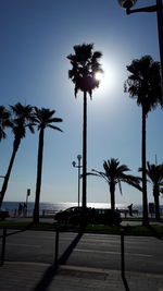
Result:
<svg viewBox="0 0 163 291">
<path fill-rule="evenodd" d="M 146 111 L 142 106 L 142 141 L 141 141 L 141 162 L 142 162 L 142 225 L 149 225 L 148 197 L 147 197 L 147 172 L 146 172 Z"/>
</svg>

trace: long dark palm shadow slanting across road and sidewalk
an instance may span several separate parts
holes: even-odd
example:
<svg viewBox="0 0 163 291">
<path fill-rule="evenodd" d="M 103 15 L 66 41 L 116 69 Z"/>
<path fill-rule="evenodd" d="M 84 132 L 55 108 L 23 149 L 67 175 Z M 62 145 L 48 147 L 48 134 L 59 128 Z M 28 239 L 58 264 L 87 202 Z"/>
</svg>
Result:
<svg viewBox="0 0 163 291">
<path fill-rule="evenodd" d="M 72 243 L 68 245 L 68 247 L 65 250 L 65 252 L 61 255 L 61 257 L 58 259 L 57 263 L 51 265 L 47 270 L 45 271 L 41 280 L 37 283 L 37 286 L 34 288 L 34 291 L 45 291 L 51 283 L 52 279 L 58 272 L 59 266 L 60 265 L 65 265 L 68 257 L 71 256 L 73 250 L 79 242 L 84 234 L 84 230 L 79 231 L 76 235 L 76 238 L 72 241 Z"/>
</svg>

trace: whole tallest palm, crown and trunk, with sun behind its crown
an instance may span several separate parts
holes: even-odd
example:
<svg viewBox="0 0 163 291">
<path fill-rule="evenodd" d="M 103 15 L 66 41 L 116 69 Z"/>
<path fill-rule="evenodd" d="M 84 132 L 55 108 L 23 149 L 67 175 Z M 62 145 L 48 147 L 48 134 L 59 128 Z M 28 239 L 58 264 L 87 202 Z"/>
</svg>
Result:
<svg viewBox="0 0 163 291">
<path fill-rule="evenodd" d="M 68 71 L 68 77 L 75 84 L 75 97 L 78 90 L 84 93 L 84 120 L 83 120 L 83 209 L 87 206 L 87 94 L 90 98 L 92 90 L 99 86 L 96 80 L 97 72 L 103 72 L 99 63 L 102 53 L 93 51 L 93 45 L 83 44 L 74 46 L 75 54 L 67 56 L 72 69 Z"/>
</svg>

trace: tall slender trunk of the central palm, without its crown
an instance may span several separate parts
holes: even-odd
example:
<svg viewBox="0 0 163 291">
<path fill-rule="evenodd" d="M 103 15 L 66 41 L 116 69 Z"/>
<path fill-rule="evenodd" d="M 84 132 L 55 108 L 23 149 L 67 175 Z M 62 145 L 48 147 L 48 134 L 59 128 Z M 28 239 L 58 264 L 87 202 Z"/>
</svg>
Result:
<svg viewBox="0 0 163 291">
<path fill-rule="evenodd" d="M 83 123 L 83 210 L 87 206 L 87 93 L 84 92 L 84 123 Z"/>
</svg>

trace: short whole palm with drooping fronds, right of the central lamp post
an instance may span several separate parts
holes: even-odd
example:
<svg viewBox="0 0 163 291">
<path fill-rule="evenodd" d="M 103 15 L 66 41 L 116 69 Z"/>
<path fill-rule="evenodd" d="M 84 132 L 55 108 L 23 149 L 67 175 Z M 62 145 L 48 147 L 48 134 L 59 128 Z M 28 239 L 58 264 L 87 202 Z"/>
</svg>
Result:
<svg viewBox="0 0 163 291">
<path fill-rule="evenodd" d="M 115 186 L 118 184 L 120 191 L 122 193 L 122 186 L 121 182 L 127 183 L 139 191 L 141 190 L 141 186 L 139 185 L 140 178 L 135 177 L 131 174 L 126 174 L 125 172 L 130 171 L 129 168 L 126 165 L 120 165 L 118 159 L 111 158 L 110 160 L 103 162 L 103 169 L 104 172 L 100 172 L 97 170 L 92 170 L 93 175 L 98 175 L 100 178 L 103 178 L 110 187 L 110 195 L 111 195 L 111 209 L 115 209 Z"/>
</svg>

